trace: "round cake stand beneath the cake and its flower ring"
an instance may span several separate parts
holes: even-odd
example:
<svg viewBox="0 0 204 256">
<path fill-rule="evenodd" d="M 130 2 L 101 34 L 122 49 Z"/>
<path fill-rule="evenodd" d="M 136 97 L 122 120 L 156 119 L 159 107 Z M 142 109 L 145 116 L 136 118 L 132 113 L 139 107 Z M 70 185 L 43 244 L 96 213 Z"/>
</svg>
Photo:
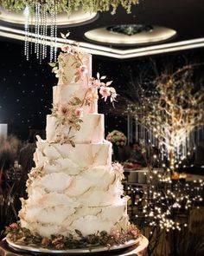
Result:
<svg viewBox="0 0 204 256">
<path fill-rule="evenodd" d="M 0 255 L 3 256 L 32 256 L 32 255 L 120 255 L 120 256 L 128 256 L 128 255 L 137 255 L 143 256 L 146 253 L 146 248 L 149 244 L 149 241 L 142 236 L 140 240 L 131 240 L 124 245 L 120 246 L 112 246 L 111 248 L 107 248 L 106 246 L 96 246 L 90 249 L 81 248 L 81 249 L 68 249 L 68 250 L 48 250 L 45 248 L 37 248 L 32 246 L 20 246 L 16 245 L 10 240 L 2 240 L 0 242 Z"/>
</svg>

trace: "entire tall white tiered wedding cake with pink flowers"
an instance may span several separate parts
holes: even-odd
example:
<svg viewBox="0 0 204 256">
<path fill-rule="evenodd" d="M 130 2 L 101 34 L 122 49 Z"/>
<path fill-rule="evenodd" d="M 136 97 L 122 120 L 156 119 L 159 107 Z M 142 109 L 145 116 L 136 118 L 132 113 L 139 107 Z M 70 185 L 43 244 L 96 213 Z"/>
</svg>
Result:
<svg viewBox="0 0 204 256">
<path fill-rule="evenodd" d="M 112 144 L 104 139 L 104 115 L 98 114 L 96 91 L 115 93 L 111 82 L 93 80 L 92 56 L 66 49 L 53 71 L 54 108 L 47 116 L 47 140 L 38 138 L 35 165 L 27 182 L 28 200 L 19 213 L 31 233 L 77 237 L 129 225 L 122 197 L 123 170 L 112 165 Z"/>
</svg>

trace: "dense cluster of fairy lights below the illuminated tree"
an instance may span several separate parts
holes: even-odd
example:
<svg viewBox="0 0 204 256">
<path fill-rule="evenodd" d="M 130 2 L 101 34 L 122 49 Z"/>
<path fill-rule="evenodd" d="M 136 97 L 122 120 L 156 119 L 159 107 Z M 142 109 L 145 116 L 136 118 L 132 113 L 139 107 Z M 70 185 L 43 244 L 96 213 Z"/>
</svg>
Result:
<svg viewBox="0 0 204 256">
<path fill-rule="evenodd" d="M 187 227 L 188 218 L 181 221 L 177 220 L 179 219 L 178 216 L 184 213 L 188 215 L 194 207 L 201 207 L 204 181 L 188 182 L 185 181 L 185 178 L 174 181 L 170 177 L 164 178 L 161 170 L 153 170 L 145 174 L 147 175 L 148 186 L 146 189 L 143 190 L 143 188 L 134 185 L 127 187 L 127 194 L 143 194 L 142 198 L 136 200 L 135 203 L 133 202 L 134 207 L 142 207 L 142 212 L 139 212 L 140 215 L 137 213 L 134 215 L 136 220 L 141 217 L 142 213 L 144 226 L 157 226 L 166 232 L 170 230 L 181 231 L 183 227 Z"/>
</svg>

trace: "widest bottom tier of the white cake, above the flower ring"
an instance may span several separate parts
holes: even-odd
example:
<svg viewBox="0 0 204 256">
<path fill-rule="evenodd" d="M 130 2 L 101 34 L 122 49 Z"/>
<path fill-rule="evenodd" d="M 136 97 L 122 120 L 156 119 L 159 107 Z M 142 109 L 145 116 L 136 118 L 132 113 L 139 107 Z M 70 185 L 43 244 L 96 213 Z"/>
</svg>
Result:
<svg viewBox="0 0 204 256">
<path fill-rule="evenodd" d="M 21 226 L 31 233 L 50 238 L 51 235 L 76 235 L 79 230 L 83 236 L 101 231 L 124 229 L 128 225 L 127 201 L 121 199 L 118 205 L 108 207 L 55 207 L 27 206 L 19 213 Z"/>
</svg>

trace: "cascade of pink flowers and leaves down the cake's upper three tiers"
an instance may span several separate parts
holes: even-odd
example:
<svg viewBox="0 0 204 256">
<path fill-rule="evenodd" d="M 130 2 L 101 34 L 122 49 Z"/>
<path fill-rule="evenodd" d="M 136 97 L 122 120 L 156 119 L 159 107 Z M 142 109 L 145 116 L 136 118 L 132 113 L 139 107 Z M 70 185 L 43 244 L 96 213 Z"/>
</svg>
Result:
<svg viewBox="0 0 204 256">
<path fill-rule="evenodd" d="M 105 102 L 110 98 L 114 107 L 117 93 L 116 90 L 111 87 L 112 81 L 105 82 L 106 75 L 100 75 L 99 72 L 97 73 L 96 78 L 89 75 L 89 70 L 83 57 L 86 54 L 84 55 L 80 52 L 79 43 L 68 43 L 67 37 L 69 36 L 69 33 L 66 35 L 61 33 L 61 36 L 66 40 L 66 43 L 61 47 L 58 62 L 49 62 L 48 64 L 53 68 L 52 72 L 55 76 L 59 78 L 59 86 L 64 86 L 64 84 L 67 84 L 70 81 L 74 83 L 82 82 L 82 86 L 86 90 L 82 98 L 74 96 L 66 104 L 53 104 L 52 115 L 58 120 L 58 132 L 54 142 L 67 142 L 71 143 L 74 147 L 74 136 L 70 136 L 70 132 L 72 129 L 75 129 L 76 131 L 80 130 L 83 109 L 87 107 L 92 108 L 99 99 L 99 95 L 101 99 L 105 100 Z M 70 62 L 67 60 L 67 56 L 70 56 Z M 69 75 L 70 70 L 67 69 L 67 62 L 69 62 L 69 65 L 74 70 L 71 71 L 71 75 L 73 75 L 73 77 L 70 77 Z M 65 125 L 69 126 L 66 135 L 61 131 Z"/>
</svg>

